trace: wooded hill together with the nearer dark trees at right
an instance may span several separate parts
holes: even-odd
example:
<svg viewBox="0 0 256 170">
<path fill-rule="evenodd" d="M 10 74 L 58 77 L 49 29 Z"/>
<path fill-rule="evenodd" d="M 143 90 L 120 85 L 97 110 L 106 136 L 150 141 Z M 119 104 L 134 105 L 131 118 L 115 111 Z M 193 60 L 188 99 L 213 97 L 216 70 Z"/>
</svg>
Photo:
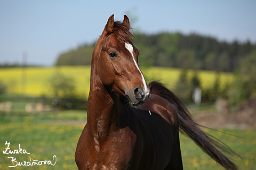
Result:
<svg viewBox="0 0 256 170">
<path fill-rule="evenodd" d="M 231 104 L 238 104 L 256 95 L 256 44 L 250 41 L 220 41 L 210 36 L 191 33 L 161 32 L 152 35 L 134 33 L 133 44 L 140 51 L 140 66 L 179 67 L 181 74 L 175 94 L 183 101 L 191 102 L 193 91 L 201 87 L 197 70 L 216 72 L 211 87 L 202 90 L 203 101 L 213 102 L 221 97 Z M 94 44 L 60 54 L 55 65 L 90 65 Z M 193 78 L 187 76 L 194 70 Z M 220 88 L 220 72 L 233 72 L 233 82 Z M 201 87 L 202 88 L 202 87 Z"/>
</svg>

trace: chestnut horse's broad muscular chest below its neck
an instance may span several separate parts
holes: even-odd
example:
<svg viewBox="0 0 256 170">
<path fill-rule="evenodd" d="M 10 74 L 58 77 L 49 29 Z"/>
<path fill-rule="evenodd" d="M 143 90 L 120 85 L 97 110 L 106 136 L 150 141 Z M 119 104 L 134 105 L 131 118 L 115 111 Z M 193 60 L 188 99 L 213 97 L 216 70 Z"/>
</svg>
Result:
<svg viewBox="0 0 256 170">
<path fill-rule="evenodd" d="M 104 140 L 87 138 L 87 144 L 82 149 L 84 152 L 81 152 L 83 162 L 80 166 L 84 169 L 130 169 L 134 138 L 126 129 L 110 134 Z"/>
</svg>

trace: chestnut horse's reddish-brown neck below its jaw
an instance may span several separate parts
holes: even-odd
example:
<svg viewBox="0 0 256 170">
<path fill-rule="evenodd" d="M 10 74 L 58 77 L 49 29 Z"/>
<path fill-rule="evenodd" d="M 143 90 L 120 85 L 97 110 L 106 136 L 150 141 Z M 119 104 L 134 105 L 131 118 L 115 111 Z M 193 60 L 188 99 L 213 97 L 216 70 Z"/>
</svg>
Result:
<svg viewBox="0 0 256 170">
<path fill-rule="evenodd" d="M 92 64 L 87 124 L 94 136 L 107 137 L 118 128 L 118 105 L 119 97 L 103 86 Z"/>
</svg>

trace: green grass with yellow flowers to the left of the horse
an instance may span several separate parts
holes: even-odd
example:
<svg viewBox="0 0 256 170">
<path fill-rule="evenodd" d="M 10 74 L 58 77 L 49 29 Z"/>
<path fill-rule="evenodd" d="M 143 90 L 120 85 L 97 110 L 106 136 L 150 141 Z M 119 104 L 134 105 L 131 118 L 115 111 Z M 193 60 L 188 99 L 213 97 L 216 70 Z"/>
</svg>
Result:
<svg viewBox="0 0 256 170">
<path fill-rule="evenodd" d="M 82 126 L 42 124 L 34 116 L 26 116 L 19 121 L 1 120 L 1 150 L 5 150 L 5 141 L 10 142 L 12 150 L 26 149 L 30 154 L 0 154 L 0 169 L 13 166 L 9 156 L 18 162 L 34 160 L 52 160 L 57 156 L 57 164 L 41 166 L 17 166 L 15 169 L 77 169 L 74 160 L 76 143 L 81 134 Z"/>
</svg>

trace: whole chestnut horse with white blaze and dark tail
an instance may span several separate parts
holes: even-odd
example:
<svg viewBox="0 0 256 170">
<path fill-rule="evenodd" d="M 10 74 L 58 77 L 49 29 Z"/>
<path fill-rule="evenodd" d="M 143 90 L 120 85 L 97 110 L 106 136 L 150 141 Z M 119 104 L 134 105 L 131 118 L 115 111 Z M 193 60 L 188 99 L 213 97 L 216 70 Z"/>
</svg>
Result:
<svg viewBox="0 0 256 170">
<path fill-rule="evenodd" d="M 75 154 L 78 168 L 183 169 L 180 130 L 223 167 L 237 169 L 214 146 L 230 150 L 201 131 L 171 91 L 157 82 L 147 86 L 138 55 L 127 16 L 115 22 L 111 15 L 92 54 L 87 124 Z"/>
</svg>

